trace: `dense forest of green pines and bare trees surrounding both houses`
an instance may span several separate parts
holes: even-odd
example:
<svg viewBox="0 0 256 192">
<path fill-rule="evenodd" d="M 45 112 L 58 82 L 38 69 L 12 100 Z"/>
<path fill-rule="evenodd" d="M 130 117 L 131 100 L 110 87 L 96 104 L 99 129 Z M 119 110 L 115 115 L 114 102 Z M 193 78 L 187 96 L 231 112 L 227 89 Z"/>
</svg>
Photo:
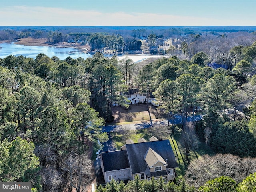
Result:
<svg viewBox="0 0 256 192">
<path fill-rule="evenodd" d="M 97 191 L 255 191 L 256 33 L 152 30 L 117 33 L 124 38 L 123 46 L 128 36 L 141 42 L 143 31 L 149 43 L 152 34 L 155 44 L 170 38 L 169 58 L 141 64 L 96 52 L 87 59 L 60 60 L 40 53 L 35 59 L 0 59 L 0 181 L 31 181 L 34 192 L 86 191 L 94 180 L 92 150 L 108 140 L 102 127 L 114 120 L 112 103 L 128 107 L 117 93 L 139 88 L 153 92 L 166 113 L 182 115 L 179 143 L 187 168 L 176 182 L 136 178 L 126 185 L 112 180 Z M 28 32 L 47 38 L 50 33 L 38 31 L 2 30 L 0 37 L 15 40 Z M 73 32 L 68 37 L 80 34 L 87 36 Z M 86 41 L 100 34 L 92 32 Z M 102 48 L 92 42 L 90 46 Z M 222 67 L 211 68 L 212 63 Z M 188 123 L 189 109 L 192 116 L 200 113 L 204 118 Z M 172 122 L 174 115 L 169 118 Z M 177 134 L 175 126 L 165 129 L 168 136 Z M 213 153 L 192 160 L 199 142 Z"/>
</svg>

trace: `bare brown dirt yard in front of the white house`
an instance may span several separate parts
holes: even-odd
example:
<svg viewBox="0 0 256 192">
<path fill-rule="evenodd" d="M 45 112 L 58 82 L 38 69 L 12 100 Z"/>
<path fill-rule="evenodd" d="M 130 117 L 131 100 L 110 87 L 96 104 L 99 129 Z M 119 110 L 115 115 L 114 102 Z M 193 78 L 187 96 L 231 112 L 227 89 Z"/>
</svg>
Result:
<svg viewBox="0 0 256 192">
<path fill-rule="evenodd" d="M 150 115 L 149 115 L 150 112 Z M 161 119 L 166 118 L 167 114 L 164 114 L 164 111 L 160 108 L 156 108 L 149 104 L 138 104 L 130 105 L 128 109 L 124 107 L 115 106 L 113 107 L 113 116 L 115 117 L 113 123 L 120 122 L 133 122 L 133 121 L 144 121 L 151 119 Z"/>
</svg>

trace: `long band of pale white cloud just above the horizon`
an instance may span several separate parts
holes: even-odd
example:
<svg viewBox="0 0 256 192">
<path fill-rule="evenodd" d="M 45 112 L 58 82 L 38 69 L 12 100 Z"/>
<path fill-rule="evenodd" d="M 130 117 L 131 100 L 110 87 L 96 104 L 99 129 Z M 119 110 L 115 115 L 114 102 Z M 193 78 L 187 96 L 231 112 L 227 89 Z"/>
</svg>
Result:
<svg viewBox="0 0 256 192">
<path fill-rule="evenodd" d="M 201 18 L 153 13 L 101 13 L 63 8 L 14 6 L 2 8 L 1 26 L 227 26 L 255 25 L 254 20 Z"/>
</svg>

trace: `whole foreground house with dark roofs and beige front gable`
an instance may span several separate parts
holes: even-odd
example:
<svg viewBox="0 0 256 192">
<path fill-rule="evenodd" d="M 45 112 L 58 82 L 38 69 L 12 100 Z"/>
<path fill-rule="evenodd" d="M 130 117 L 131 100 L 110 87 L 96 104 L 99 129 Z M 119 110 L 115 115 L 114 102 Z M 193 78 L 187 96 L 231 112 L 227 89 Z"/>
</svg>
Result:
<svg viewBox="0 0 256 192">
<path fill-rule="evenodd" d="M 101 168 L 105 182 L 114 180 L 133 180 L 136 175 L 141 180 L 159 179 L 164 182 L 175 178 L 178 167 L 169 140 L 157 140 L 152 137 L 149 142 L 125 145 L 124 150 L 102 152 Z"/>
</svg>

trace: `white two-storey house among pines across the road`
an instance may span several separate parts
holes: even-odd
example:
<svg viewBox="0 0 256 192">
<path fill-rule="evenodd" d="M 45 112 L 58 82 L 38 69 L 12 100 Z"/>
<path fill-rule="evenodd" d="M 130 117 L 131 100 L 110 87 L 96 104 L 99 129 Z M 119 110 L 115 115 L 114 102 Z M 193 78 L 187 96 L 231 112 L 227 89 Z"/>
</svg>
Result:
<svg viewBox="0 0 256 192">
<path fill-rule="evenodd" d="M 129 89 L 128 92 L 124 94 L 121 93 L 121 95 L 125 96 L 129 100 L 128 104 L 138 104 L 147 102 L 147 94 L 140 93 L 139 89 Z M 152 95 L 152 93 L 149 93 L 149 103 L 151 103 L 152 98 L 154 98 L 154 96 Z"/>
</svg>

